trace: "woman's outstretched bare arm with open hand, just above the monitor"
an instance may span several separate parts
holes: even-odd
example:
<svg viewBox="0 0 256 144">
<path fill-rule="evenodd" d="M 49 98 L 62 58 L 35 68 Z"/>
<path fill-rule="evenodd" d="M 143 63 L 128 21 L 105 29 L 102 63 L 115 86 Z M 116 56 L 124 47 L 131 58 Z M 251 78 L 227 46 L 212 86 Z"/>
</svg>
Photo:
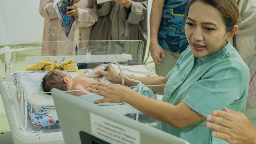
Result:
<svg viewBox="0 0 256 144">
<path fill-rule="evenodd" d="M 137 77 L 137 79 L 139 80 L 140 78 Z M 205 119 L 204 116 L 192 110 L 183 102 L 178 105 L 172 105 L 168 102 L 150 99 L 120 84 L 93 83 L 86 85 L 86 87 L 87 91 L 104 96 L 103 99 L 94 101 L 95 104 L 126 102 L 147 116 L 177 128 L 183 128 Z"/>
</svg>

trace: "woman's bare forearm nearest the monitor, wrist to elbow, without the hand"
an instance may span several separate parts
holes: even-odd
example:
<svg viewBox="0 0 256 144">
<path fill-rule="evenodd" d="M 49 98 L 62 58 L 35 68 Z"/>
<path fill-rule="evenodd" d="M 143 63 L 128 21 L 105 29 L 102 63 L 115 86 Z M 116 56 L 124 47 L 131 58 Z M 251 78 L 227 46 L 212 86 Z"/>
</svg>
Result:
<svg viewBox="0 0 256 144">
<path fill-rule="evenodd" d="M 164 101 L 150 99 L 135 91 L 128 89 L 126 91 L 124 92 L 124 102 L 143 114 L 176 128 L 183 128 L 205 119 L 204 116 L 192 110 L 183 102 L 175 106 Z"/>
</svg>

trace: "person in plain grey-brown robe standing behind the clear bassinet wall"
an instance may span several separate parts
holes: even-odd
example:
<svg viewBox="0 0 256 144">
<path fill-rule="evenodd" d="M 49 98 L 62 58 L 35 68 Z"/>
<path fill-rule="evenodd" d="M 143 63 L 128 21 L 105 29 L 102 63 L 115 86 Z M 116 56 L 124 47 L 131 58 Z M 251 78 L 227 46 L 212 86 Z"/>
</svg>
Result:
<svg viewBox="0 0 256 144">
<path fill-rule="evenodd" d="M 142 40 L 142 60 L 147 44 L 147 0 L 112 0 L 98 4 L 99 20 L 90 40 Z M 123 47 L 123 42 L 120 45 Z M 132 47 L 131 47 L 132 48 Z"/>
</svg>

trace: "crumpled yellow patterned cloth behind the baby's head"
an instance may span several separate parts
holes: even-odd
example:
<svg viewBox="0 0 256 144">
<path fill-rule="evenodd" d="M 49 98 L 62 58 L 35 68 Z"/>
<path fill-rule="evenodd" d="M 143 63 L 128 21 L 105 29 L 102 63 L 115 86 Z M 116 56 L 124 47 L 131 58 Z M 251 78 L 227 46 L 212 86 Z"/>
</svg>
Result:
<svg viewBox="0 0 256 144">
<path fill-rule="evenodd" d="M 67 71 L 77 71 L 77 64 L 72 59 L 64 58 L 63 60 L 56 59 L 45 59 L 41 60 L 37 64 L 26 68 L 26 70 L 54 70 L 54 69 L 63 69 Z"/>
</svg>

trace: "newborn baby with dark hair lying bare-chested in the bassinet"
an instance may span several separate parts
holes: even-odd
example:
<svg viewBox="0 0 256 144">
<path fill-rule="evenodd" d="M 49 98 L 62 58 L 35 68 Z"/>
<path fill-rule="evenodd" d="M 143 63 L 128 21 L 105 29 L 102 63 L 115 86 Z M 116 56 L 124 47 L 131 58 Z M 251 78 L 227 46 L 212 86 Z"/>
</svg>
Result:
<svg viewBox="0 0 256 144">
<path fill-rule="evenodd" d="M 57 88 L 61 91 L 86 90 L 86 87 L 85 87 L 86 84 L 99 83 L 99 82 L 106 83 L 106 84 L 113 84 L 105 76 L 100 78 L 100 76 L 97 75 L 93 78 L 89 78 L 86 75 L 79 75 L 79 76 L 76 76 L 75 78 L 72 78 L 72 76 L 68 72 L 56 69 L 56 70 L 49 71 L 43 77 L 41 87 L 43 88 L 44 92 L 50 92 L 52 88 Z M 132 90 L 138 92 L 139 88 L 138 87 L 133 88 Z M 91 92 L 88 92 L 88 91 L 77 91 L 77 92 L 68 92 L 68 93 L 72 95 L 92 94 Z M 143 86 L 141 88 L 140 93 L 149 98 L 156 99 L 156 95 L 154 94 L 154 92 L 146 86 Z M 92 97 L 92 99 L 90 99 L 90 97 L 85 97 L 84 100 L 87 100 L 87 101 L 91 100 L 90 102 L 93 102 L 101 98 L 103 97 L 95 94 Z"/>
</svg>

